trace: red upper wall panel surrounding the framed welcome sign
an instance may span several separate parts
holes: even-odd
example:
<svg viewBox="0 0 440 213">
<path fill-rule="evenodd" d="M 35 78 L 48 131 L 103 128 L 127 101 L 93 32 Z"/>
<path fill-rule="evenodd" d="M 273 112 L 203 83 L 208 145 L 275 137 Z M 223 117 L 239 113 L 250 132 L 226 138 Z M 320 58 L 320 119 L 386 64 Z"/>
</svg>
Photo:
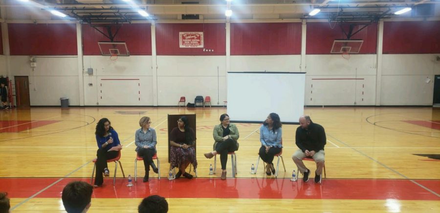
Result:
<svg viewBox="0 0 440 213">
<path fill-rule="evenodd" d="M 158 56 L 225 56 L 226 25 L 224 23 L 156 24 L 156 53 Z M 203 32 L 205 49 L 180 48 L 179 32 Z"/>
</svg>

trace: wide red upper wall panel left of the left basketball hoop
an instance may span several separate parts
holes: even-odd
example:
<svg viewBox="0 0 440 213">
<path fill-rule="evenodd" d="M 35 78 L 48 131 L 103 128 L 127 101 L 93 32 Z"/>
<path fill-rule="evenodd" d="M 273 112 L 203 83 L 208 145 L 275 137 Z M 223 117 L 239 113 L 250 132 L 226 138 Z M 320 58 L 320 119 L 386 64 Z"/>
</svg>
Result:
<svg viewBox="0 0 440 213">
<path fill-rule="evenodd" d="M 11 55 L 78 55 L 76 24 L 8 23 L 8 34 Z"/>
</svg>

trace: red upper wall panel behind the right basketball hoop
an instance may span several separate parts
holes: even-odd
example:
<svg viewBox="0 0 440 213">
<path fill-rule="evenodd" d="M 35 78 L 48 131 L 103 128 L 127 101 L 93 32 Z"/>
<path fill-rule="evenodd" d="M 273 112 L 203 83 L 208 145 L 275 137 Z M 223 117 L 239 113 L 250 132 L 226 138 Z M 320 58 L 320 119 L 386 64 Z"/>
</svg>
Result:
<svg viewBox="0 0 440 213">
<path fill-rule="evenodd" d="M 329 22 L 308 22 L 307 38 L 306 38 L 306 54 L 330 54 L 334 39 L 347 39 L 341 27 L 335 24 L 333 29 L 330 28 Z M 344 23 L 343 28 L 348 32 L 349 24 Z M 356 26 L 353 32 L 362 26 Z M 359 54 L 376 54 L 377 46 L 377 24 L 372 23 L 359 33 L 352 36 L 351 39 L 363 39 Z"/>
</svg>

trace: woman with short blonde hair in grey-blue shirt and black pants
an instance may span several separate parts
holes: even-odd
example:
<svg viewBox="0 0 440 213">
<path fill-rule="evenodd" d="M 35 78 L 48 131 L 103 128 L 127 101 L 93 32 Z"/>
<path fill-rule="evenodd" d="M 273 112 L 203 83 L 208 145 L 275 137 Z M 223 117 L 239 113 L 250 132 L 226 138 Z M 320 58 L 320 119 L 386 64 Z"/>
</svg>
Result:
<svg viewBox="0 0 440 213">
<path fill-rule="evenodd" d="M 144 167 L 145 167 L 145 176 L 143 182 L 148 181 L 148 176 L 150 172 L 150 166 L 153 169 L 154 173 L 158 173 L 159 169 L 157 169 L 156 165 L 153 161 L 153 156 L 157 152 L 156 151 L 156 131 L 150 127 L 151 121 L 150 117 L 142 117 L 139 120 L 140 129 L 136 130 L 134 133 L 134 144 L 136 144 L 136 152 L 138 156 L 144 158 Z"/>
</svg>

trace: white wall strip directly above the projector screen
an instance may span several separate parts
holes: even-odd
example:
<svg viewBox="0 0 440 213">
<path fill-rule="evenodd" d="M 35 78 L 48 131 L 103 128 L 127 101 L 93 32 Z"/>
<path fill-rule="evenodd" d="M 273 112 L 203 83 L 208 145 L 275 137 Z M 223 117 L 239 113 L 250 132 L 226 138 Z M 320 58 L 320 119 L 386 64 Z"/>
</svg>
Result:
<svg viewBox="0 0 440 213">
<path fill-rule="evenodd" d="M 300 55 L 231 56 L 231 72 L 301 72 Z"/>
</svg>

